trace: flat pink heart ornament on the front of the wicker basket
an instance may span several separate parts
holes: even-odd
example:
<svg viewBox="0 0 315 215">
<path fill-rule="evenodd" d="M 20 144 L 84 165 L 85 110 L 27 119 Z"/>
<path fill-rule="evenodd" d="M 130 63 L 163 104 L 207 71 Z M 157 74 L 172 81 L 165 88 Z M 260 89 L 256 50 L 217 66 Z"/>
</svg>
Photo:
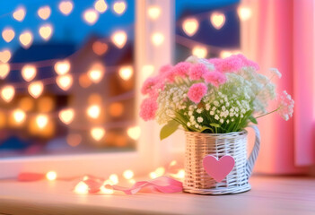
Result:
<svg viewBox="0 0 315 215">
<path fill-rule="evenodd" d="M 235 160 L 230 155 L 224 155 L 221 159 L 207 155 L 202 163 L 206 173 L 212 176 L 216 182 L 221 182 L 234 168 Z"/>
</svg>

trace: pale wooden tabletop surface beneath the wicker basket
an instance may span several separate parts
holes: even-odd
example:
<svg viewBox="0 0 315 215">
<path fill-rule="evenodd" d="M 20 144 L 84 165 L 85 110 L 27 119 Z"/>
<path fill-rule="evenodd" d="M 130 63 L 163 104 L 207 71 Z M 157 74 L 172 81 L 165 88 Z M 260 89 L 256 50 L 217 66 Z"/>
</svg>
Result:
<svg viewBox="0 0 315 215">
<path fill-rule="evenodd" d="M 252 176 L 247 193 L 78 195 L 74 182 L 0 181 L 0 214 L 315 214 L 315 178 Z"/>
</svg>

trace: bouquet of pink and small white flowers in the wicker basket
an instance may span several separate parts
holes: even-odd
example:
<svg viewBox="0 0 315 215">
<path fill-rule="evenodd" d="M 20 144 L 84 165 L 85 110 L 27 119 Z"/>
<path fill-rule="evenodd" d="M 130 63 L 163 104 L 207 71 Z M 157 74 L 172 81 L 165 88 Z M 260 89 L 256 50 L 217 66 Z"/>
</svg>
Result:
<svg viewBox="0 0 315 215">
<path fill-rule="evenodd" d="M 286 91 L 276 94 L 275 77 L 281 77 L 276 68 L 267 77 L 258 73 L 258 64 L 241 54 L 208 60 L 189 56 L 185 62 L 162 66 L 144 82 L 142 93 L 148 97 L 140 116 L 164 125 L 161 139 L 179 125 L 189 132 L 232 133 L 273 112 L 288 120 L 294 101 Z M 277 105 L 268 112 L 273 100 Z"/>
</svg>

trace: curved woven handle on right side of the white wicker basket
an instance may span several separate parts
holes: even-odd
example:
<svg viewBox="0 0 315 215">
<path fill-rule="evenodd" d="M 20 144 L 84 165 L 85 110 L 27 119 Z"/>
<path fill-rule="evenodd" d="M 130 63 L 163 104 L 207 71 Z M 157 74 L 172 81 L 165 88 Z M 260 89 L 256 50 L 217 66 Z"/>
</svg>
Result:
<svg viewBox="0 0 315 215">
<path fill-rule="evenodd" d="M 256 159 L 258 157 L 258 151 L 260 148 L 260 133 L 258 130 L 258 126 L 249 125 L 249 127 L 253 128 L 255 131 L 255 145 L 254 145 L 254 148 L 250 152 L 249 159 L 246 162 L 246 176 L 248 179 L 253 171 Z"/>
</svg>

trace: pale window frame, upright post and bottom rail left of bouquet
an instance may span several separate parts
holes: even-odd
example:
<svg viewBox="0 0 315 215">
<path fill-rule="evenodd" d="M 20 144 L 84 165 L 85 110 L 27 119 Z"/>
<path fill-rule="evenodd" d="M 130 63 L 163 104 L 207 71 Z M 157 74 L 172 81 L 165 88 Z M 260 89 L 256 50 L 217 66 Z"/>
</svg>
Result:
<svg viewBox="0 0 315 215">
<path fill-rule="evenodd" d="M 162 14 L 157 20 L 150 20 L 147 8 L 158 5 Z M 153 32 L 162 32 L 164 41 L 155 47 L 151 41 Z M 54 170 L 58 176 L 82 176 L 92 174 L 109 176 L 121 174 L 131 169 L 135 174 L 144 174 L 154 167 L 168 162 L 166 145 L 174 138 L 160 142 L 160 126 L 155 122 L 144 122 L 138 116 L 138 107 L 144 97 L 140 93 L 141 84 L 146 78 L 142 72 L 145 64 L 153 64 L 154 73 L 162 64 L 170 64 L 174 44 L 174 1 L 136 0 L 135 26 L 135 62 L 136 62 L 136 124 L 141 128 L 141 136 L 136 144 L 136 151 L 104 152 L 75 155 L 34 156 L 0 159 L 0 178 L 15 177 L 21 172 L 46 173 Z M 176 137 L 175 137 L 176 138 Z M 168 157 L 168 156 L 166 156 Z"/>
</svg>

